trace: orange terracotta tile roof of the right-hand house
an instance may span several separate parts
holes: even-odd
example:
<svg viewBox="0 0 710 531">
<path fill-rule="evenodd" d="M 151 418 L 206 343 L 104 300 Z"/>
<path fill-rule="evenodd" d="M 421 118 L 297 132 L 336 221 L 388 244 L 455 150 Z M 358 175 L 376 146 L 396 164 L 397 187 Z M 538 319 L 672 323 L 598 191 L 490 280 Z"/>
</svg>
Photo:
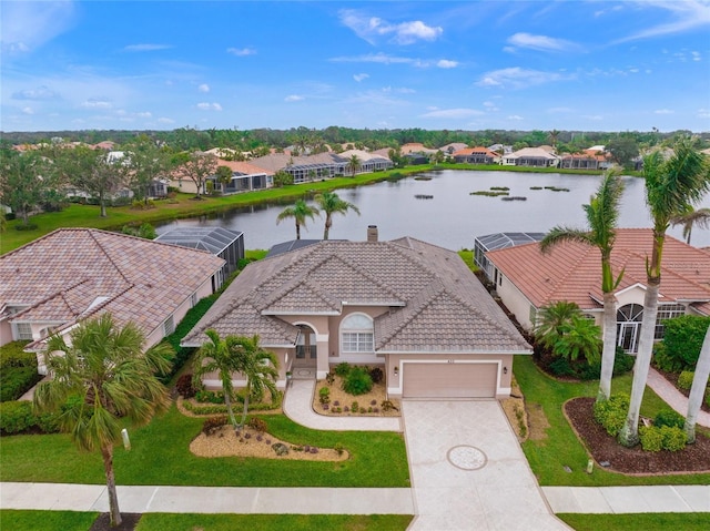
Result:
<svg viewBox="0 0 710 531">
<path fill-rule="evenodd" d="M 615 274 L 625 272 L 617 292 L 646 285 L 651 244 L 650 228 L 617 231 L 611 262 Z M 602 298 L 601 258 L 596 247 L 564 243 L 544 255 L 532 243 L 491 251 L 486 256 L 538 308 L 557 300 L 595 308 Z M 674 300 L 694 300 L 697 309 L 710 300 L 710 253 L 666 236 L 659 302 Z"/>
</svg>

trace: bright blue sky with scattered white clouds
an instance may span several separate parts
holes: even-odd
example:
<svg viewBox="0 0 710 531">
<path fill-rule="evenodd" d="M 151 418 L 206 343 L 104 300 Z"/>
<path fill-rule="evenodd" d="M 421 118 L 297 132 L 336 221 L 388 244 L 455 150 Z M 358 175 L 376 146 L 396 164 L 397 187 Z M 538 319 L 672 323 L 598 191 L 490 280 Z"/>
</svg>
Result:
<svg viewBox="0 0 710 531">
<path fill-rule="evenodd" d="M 710 0 L 0 10 L 6 132 L 710 131 Z"/>
</svg>

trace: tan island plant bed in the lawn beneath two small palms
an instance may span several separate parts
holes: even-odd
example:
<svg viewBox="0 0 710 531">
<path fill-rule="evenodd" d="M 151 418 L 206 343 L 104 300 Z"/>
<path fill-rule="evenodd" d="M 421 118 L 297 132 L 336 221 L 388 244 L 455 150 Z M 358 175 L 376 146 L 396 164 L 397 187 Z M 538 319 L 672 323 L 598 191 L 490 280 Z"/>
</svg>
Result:
<svg viewBox="0 0 710 531">
<path fill-rule="evenodd" d="M 284 445 L 288 452 L 277 455 L 273 446 L 278 443 Z M 237 456 L 300 461 L 345 461 L 349 458 L 345 450 L 292 445 L 248 426 L 242 428 L 237 435 L 231 425 L 222 426 L 211 435 L 200 433 L 190 443 L 190 451 L 197 457 Z"/>
</svg>

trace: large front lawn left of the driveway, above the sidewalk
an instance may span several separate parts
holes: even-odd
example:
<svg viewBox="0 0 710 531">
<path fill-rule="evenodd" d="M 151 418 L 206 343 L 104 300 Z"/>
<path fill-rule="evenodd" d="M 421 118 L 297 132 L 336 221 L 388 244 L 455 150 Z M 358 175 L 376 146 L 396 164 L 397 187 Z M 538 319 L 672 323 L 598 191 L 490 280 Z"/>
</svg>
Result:
<svg viewBox="0 0 710 531">
<path fill-rule="evenodd" d="M 131 432 L 130 451 L 116 447 L 119 484 L 225 487 L 409 487 L 404 438 L 392 432 L 332 432 L 303 428 L 283 415 L 264 417 L 270 431 L 295 445 L 352 453 L 347 461 L 281 461 L 253 458 L 200 458 L 190 452 L 202 419 L 174 407 Z M 4 437 L 0 445 L 3 481 L 105 482 L 99 452 L 80 453 L 67 435 Z"/>
</svg>

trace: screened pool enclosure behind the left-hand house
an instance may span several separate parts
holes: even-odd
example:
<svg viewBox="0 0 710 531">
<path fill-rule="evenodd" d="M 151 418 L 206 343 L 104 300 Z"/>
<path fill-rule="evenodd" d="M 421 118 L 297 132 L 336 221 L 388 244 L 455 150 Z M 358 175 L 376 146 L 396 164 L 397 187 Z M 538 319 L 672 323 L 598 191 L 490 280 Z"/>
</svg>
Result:
<svg viewBox="0 0 710 531">
<path fill-rule="evenodd" d="M 158 236 L 154 242 L 206 251 L 224 261 L 223 277 L 234 273 L 244 259 L 244 233 L 224 227 L 180 227 Z"/>
</svg>

